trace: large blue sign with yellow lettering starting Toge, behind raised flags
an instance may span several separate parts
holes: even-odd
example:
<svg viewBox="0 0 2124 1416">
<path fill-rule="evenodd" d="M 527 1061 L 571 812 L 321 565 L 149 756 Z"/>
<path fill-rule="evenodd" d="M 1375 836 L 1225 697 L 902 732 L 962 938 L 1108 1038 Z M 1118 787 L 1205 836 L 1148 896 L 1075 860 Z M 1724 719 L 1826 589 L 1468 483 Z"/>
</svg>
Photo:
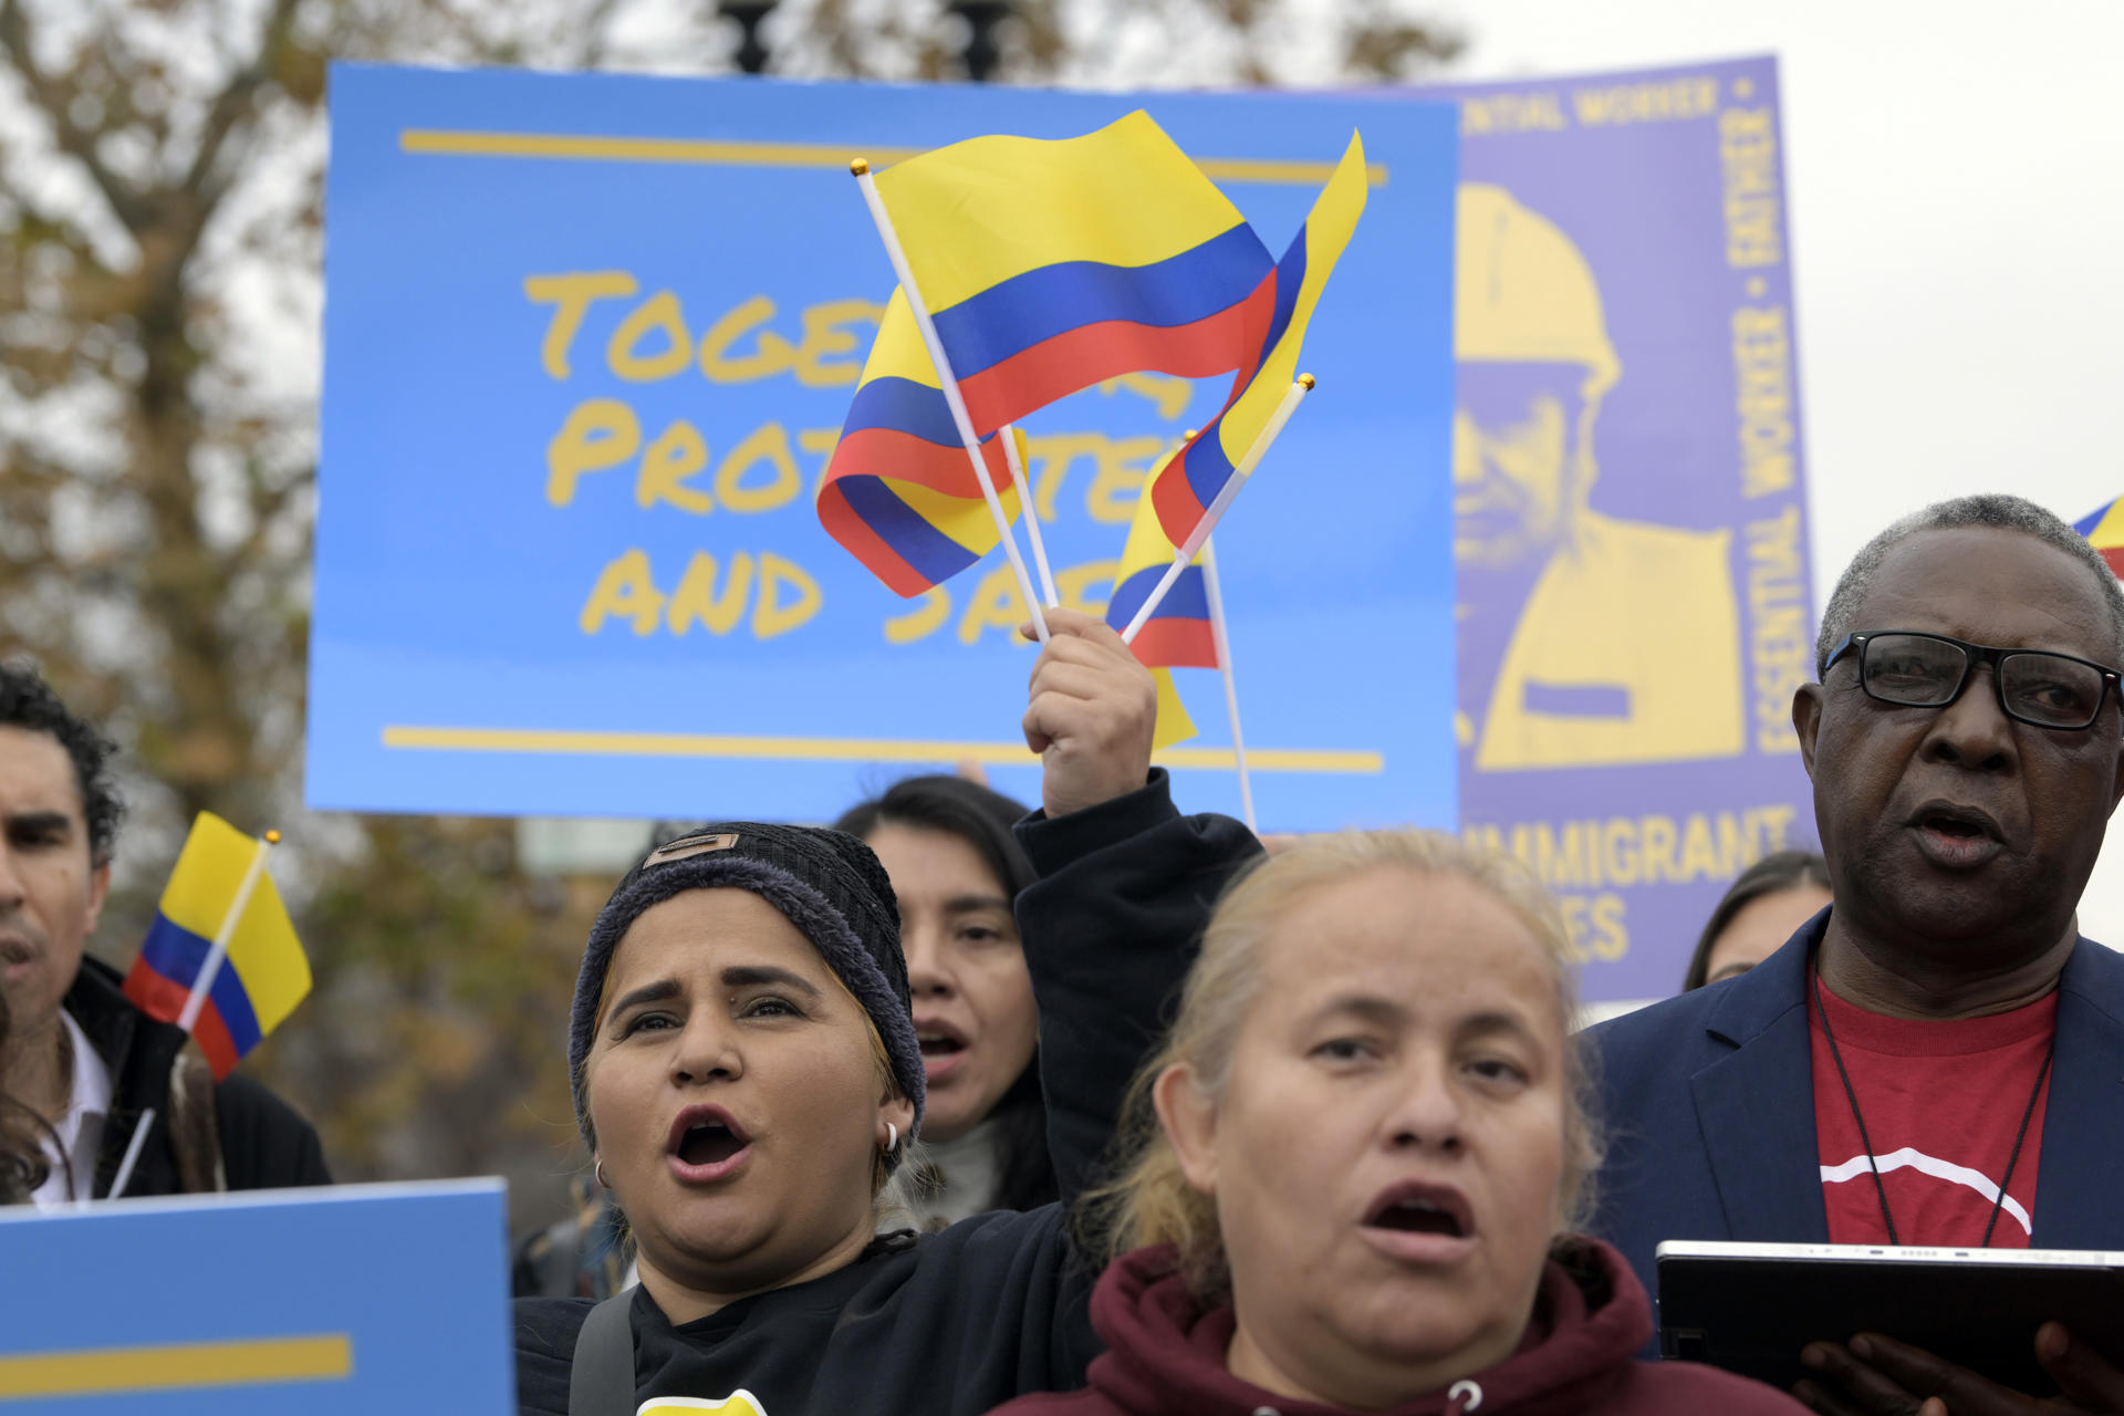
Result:
<svg viewBox="0 0 2124 1416">
<path fill-rule="evenodd" d="M 1372 191 L 1319 378 L 1217 533 L 1262 824 L 1455 819 L 1455 117 L 1332 98 L 331 74 L 314 807 L 822 819 L 977 760 L 1037 794 L 1000 552 L 903 601 L 818 478 L 892 291 L 847 159 L 1147 108 L 1281 251 L 1351 129 Z M 1145 473 L 1230 380 L 1024 422 L 1100 609 Z M 1236 809 L 1215 675 L 1166 760 Z"/>
</svg>

